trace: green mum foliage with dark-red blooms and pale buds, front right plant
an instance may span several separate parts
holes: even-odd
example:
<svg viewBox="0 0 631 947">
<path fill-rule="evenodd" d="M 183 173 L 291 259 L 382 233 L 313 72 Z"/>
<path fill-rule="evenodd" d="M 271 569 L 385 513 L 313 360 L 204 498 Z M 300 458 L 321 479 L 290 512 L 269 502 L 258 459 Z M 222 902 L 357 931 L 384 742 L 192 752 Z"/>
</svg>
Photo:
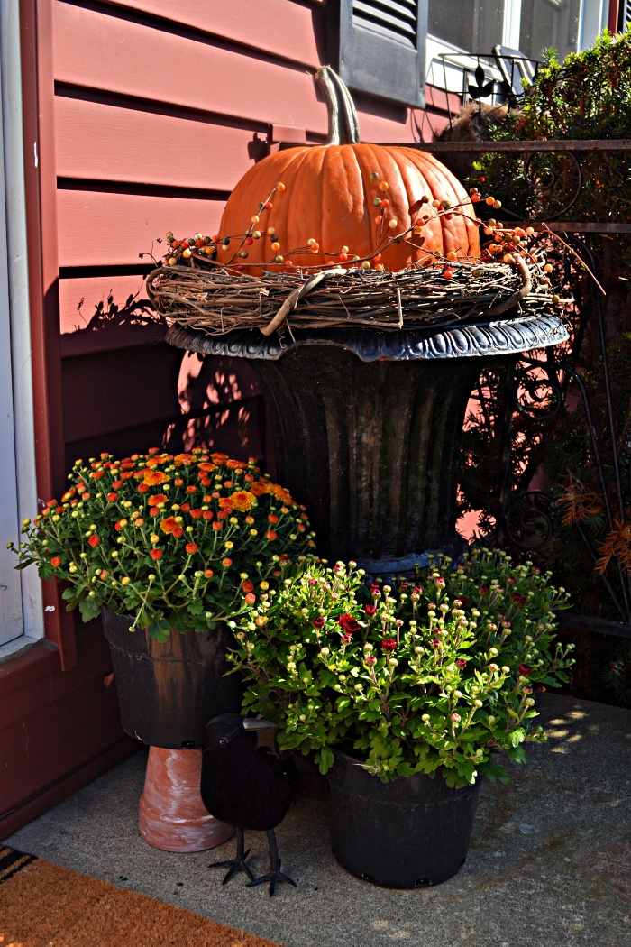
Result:
<svg viewBox="0 0 631 947">
<path fill-rule="evenodd" d="M 564 590 L 532 563 L 474 551 L 439 557 L 413 582 L 375 581 L 351 563 L 309 559 L 236 621 L 230 659 L 244 707 L 278 725 L 283 749 L 333 747 L 384 782 L 440 771 L 450 786 L 505 778 L 500 749 L 542 742 L 535 685 L 566 681 L 571 646 L 554 644 Z"/>
</svg>

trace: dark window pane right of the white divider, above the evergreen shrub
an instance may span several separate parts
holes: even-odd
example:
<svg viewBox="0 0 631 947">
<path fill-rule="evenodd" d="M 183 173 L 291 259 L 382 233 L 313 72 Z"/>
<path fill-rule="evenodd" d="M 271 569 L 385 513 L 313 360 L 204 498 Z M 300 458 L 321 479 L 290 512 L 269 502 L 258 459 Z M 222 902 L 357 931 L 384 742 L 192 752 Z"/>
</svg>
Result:
<svg viewBox="0 0 631 947">
<path fill-rule="evenodd" d="M 543 59 L 544 49 L 557 49 L 559 62 L 576 52 L 581 0 L 528 0 L 521 8 L 519 50 Z"/>
</svg>

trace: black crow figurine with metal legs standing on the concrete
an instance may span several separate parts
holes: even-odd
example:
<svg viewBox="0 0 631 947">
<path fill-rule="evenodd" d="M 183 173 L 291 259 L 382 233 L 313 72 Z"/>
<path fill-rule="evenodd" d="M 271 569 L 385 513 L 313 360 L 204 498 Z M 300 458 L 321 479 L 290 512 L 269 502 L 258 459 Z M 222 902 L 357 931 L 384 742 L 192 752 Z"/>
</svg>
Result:
<svg viewBox="0 0 631 947">
<path fill-rule="evenodd" d="M 278 759 L 267 746 L 257 745 L 257 731 L 273 728 L 267 720 L 224 713 L 206 724 L 202 743 L 202 801 L 215 818 L 237 828 L 237 854 L 227 862 L 209 867 L 228 867 L 223 879 L 245 871 L 254 884 L 270 882 L 270 897 L 277 882 L 296 883 L 280 870 L 274 828 L 282 822 L 295 790 L 297 772 L 291 759 Z M 246 863 L 244 830 L 267 831 L 270 872 L 254 878 Z"/>
</svg>

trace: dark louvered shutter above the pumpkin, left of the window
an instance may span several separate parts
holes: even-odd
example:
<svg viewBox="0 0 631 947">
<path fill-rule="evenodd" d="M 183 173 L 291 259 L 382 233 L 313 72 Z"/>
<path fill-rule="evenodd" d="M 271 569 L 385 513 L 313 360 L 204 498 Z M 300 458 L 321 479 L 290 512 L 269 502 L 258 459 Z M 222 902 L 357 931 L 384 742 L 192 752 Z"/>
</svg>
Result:
<svg viewBox="0 0 631 947">
<path fill-rule="evenodd" d="M 340 0 L 338 72 L 349 89 L 425 106 L 428 0 Z"/>
</svg>

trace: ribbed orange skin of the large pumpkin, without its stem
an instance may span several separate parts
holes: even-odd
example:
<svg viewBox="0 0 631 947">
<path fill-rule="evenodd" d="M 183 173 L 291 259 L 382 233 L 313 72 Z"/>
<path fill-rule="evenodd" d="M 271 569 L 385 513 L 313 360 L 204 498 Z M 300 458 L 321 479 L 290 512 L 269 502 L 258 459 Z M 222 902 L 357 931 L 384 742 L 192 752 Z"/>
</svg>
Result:
<svg viewBox="0 0 631 947">
<path fill-rule="evenodd" d="M 383 194 L 378 181 L 371 181 L 372 171 L 390 186 Z M 259 202 L 266 199 L 281 181 L 285 190 L 272 197 L 272 209 L 259 211 Z M 386 219 L 394 218 L 395 229 L 384 227 L 391 236 L 404 233 L 412 225 L 410 208 L 427 194 L 430 199 L 447 199 L 459 204 L 467 194 L 460 182 L 431 154 L 413 148 L 386 145 L 322 145 L 313 148 L 291 148 L 276 152 L 254 165 L 239 181 L 223 211 L 219 234 L 244 234 L 258 214 L 256 229 L 275 227 L 280 253 L 289 256 L 296 266 L 318 266 L 340 253 L 343 245 L 358 257 L 370 254 L 377 245 L 379 208 L 373 204 L 377 196 L 387 197 L 390 207 Z M 480 241 L 471 205 L 464 214 L 455 213 L 426 224 L 423 247 L 409 243 L 393 243 L 382 251 L 380 262 L 386 269 L 400 270 L 410 262 L 429 261 L 426 250 L 459 257 L 478 257 Z M 433 211 L 429 208 L 429 214 Z M 415 219 L 417 211 L 413 214 Z M 292 253 L 295 247 L 307 246 L 309 238 L 320 244 L 323 256 Z M 418 243 L 418 238 L 407 238 Z M 237 250 L 240 241 L 232 240 L 227 250 L 219 249 L 219 262 L 225 263 Z M 269 239 L 254 241 L 247 247 L 248 266 L 243 272 L 258 274 L 261 264 L 270 266 L 274 253 Z M 236 260 L 237 261 L 237 260 Z M 241 260 L 238 260 L 241 262 Z M 244 262 L 244 261 L 243 261 Z M 267 268 L 267 267 L 266 267 Z"/>
</svg>

